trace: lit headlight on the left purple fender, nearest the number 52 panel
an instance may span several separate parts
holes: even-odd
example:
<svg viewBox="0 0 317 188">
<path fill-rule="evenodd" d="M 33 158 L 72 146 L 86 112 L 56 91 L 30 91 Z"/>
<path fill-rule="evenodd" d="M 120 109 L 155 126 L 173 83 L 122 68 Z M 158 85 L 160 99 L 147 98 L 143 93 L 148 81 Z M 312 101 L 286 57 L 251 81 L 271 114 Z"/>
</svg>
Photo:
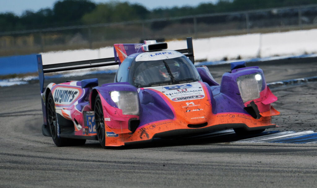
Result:
<svg viewBox="0 0 317 188">
<path fill-rule="evenodd" d="M 138 93 L 133 91 L 111 91 L 111 99 L 124 115 L 139 115 Z"/>
</svg>

